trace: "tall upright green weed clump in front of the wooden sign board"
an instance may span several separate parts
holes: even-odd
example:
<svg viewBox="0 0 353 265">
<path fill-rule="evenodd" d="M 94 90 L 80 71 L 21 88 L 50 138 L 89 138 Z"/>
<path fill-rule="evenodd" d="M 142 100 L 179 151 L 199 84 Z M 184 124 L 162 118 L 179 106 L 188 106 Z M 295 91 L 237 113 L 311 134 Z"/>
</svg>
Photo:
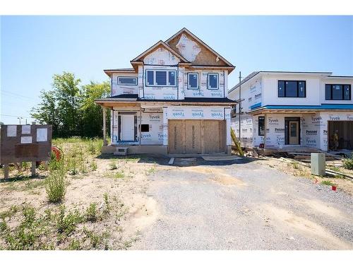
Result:
<svg viewBox="0 0 353 265">
<path fill-rule="evenodd" d="M 63 168 L 50 172 L 49 177 L 45 179 L 45 189 L 50 202 L 57 203 L 64 199 L 66 184 Z"/>
</svg>

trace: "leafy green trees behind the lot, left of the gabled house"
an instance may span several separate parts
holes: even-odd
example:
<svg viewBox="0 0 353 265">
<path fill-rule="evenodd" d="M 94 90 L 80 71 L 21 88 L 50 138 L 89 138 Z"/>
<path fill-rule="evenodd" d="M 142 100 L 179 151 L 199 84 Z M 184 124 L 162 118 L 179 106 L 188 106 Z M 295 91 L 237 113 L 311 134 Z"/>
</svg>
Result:
<svg viewBox="0 0 353 265">
<path fill-rule="evenodd" d="M 102 107 L 94 100 L 109 96 L 109 82 L 80 86 L 80 79 L 64 72 L 53 76 L 52 90 L 42 90 L 42 102 L 31 116 L 40 124 L 53 125 L 53 137 L 102 136 Z M 107 111 L 107 128 L 110 112 Z"/>
</svg>

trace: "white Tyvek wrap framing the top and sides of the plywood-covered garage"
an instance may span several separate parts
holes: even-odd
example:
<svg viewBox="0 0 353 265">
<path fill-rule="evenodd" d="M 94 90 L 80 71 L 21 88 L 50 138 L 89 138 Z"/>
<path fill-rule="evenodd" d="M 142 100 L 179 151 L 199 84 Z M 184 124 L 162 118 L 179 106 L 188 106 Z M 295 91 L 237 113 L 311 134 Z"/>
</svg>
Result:
<svg viewBox="0 0 353 265">
<path fill-rule="evenodd" d="M 168 119 L 225 119 L 227 146 L 232 144 L 230 136 L 230 107 L 168 106 L 163 107 L 163 145 L 168 145 Z"/>
</svg>

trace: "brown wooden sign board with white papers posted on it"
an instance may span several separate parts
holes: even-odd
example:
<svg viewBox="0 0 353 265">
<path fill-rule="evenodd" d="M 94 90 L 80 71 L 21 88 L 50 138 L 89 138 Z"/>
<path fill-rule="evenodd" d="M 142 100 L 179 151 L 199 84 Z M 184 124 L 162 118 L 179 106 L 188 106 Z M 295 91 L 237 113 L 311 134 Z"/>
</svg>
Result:
<svg viewBox="0 0 353 265">
<path fill-rule="evenodd" d="M 52 125 L 1 125 L 0 163 L 47 161 L 52 154 Z"/>
</svg>

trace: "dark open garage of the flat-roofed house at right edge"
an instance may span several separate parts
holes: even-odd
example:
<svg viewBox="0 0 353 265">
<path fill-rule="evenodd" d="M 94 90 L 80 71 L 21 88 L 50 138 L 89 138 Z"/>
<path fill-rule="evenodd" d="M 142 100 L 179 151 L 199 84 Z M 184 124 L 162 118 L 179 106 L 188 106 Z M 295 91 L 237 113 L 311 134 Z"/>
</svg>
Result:
<svg viewBox="0 0 353 265">
<path fill-rule="evenodd" d="M 353 150 L 353 121 L 330 121 L 327 133 L 329 150 Z"/>
</svg>

